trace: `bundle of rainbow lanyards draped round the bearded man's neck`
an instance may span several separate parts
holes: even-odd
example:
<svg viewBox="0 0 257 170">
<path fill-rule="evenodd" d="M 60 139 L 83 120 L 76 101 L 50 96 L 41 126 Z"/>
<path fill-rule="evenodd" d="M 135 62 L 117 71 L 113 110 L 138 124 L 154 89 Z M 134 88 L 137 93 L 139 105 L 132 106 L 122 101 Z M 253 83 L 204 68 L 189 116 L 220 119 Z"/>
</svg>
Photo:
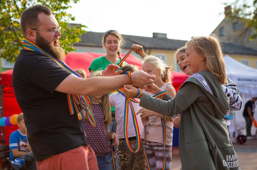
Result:
<svg viewBox="0 0 257 170">
<path fill-rule="evenodd" d="M 25 38 L 23 41 L 21 41 L 21 44 L 23 44 L 25 50 L 36 51 L 36 52 L 45 54 L 48 57 L 50 57 L 52 60 L 54 60 L 60 67 L 63 67 L 65 70 L 75 74 L 78 77 L 81 77 L 75 71 L 71 70 L 67 65 L 65 65 L 62 61 L 57 60 L 55 57 L 53 57 L 51 54 L 46 52 L 44 49 L 37 46 L 32 41 Z M 84 109 L 85 111 L 87 111 L 87 117 L 89 118 L 90 123 L 94 127 L 96 126 L 96 119 L 88 108 L 89 104 L 91 103 L 90 97 L 67 94 L 67 99 L 68 99 L 68 107 L 71 115 L 77 113 L 78 119 L 82 120 L 80 112 Z"/>
</svg>

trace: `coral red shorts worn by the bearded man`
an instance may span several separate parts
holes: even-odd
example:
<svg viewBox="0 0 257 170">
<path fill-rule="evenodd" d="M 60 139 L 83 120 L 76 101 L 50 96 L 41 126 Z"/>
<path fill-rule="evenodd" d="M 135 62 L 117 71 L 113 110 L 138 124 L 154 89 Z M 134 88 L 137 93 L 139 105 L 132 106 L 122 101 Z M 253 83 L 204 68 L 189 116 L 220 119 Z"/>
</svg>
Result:
<svg viewBox="0 0 257 170">
<path fill-rule="evenodd" d="M 96 155 L 88 145 L 37 161 L 36 167 L 38 170 L 98 170 Z"/>
</svg>

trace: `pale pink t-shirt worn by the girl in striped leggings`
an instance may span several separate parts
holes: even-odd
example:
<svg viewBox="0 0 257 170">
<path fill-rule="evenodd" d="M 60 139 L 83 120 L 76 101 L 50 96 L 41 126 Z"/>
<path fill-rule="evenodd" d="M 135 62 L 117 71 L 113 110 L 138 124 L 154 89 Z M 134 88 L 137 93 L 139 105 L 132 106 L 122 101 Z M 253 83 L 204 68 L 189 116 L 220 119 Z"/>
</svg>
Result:
<svg viewBox="0 0 257 170">
<path fill-rule="evenodd" d="M 165 91 L 165 89 L 170 86 L 174 88 L 170 83 L 165 83 L 160 89 Z M 148 91 L 143 91 L 143 93 L 154 96 L 153 93 Z M 146 122 L 146 140 L 151 142 L 158 142 L 163 144 L 163 128 L 161 125 L 161 118 L 158 116 L 149 116 Z M 173 136 L 173 123 L 166 122 L 166 145 L 172 145 Z M 144 139 L 144 130 L 142 132 L 141 138 Z"/>
</svg>

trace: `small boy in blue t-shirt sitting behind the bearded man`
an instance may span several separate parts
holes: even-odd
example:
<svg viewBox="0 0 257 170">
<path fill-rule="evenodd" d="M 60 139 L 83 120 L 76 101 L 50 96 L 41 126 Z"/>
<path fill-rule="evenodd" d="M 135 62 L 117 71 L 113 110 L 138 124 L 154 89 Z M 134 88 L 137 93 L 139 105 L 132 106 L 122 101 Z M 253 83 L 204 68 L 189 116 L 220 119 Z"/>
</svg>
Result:
<svg viewBox="0 0 257 170">
<path fill-rule="evenodd" d="M 27 141 L 27 128 L 23 113 L 20 113 L 17 117 L 17 126 L 19 129 L 11 133 L 9 140 L 11 166 L 15 170 L 20 168 L 37 169 L 35 157 Z"/>
</svg>

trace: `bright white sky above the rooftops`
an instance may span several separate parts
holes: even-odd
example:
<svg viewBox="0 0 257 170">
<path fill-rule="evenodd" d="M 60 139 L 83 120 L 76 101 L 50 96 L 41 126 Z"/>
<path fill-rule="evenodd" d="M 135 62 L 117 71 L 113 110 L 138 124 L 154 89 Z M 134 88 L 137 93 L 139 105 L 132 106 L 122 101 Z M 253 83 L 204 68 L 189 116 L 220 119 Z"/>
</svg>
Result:
<svg viewBox="0 0 257 170">
<path fill-rule="evenodd" d="M 80 0 L 71 4 L 71 23 L 87 31 L 152 37 L 166 33 L 169 39 L 190 40 L 208 36 L 224 19 L 225 2 L 233 0 Z"/>
</svg>

